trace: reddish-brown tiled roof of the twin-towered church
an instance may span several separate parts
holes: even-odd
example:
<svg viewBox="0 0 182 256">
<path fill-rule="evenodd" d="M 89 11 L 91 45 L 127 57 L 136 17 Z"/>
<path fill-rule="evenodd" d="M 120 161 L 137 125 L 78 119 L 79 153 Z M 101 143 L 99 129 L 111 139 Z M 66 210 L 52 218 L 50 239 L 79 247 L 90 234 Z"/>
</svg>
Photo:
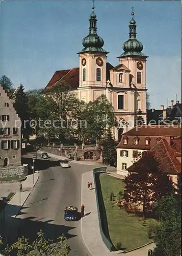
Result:
<svg viewBox="0 0 182 256">
<path fill-rule="evenodd" d="M 107 76 L 106 81 L 110 80 L 111 69 L 113 69 L 113 66 L 109 62 L 107 62 L 106 63 L 106 76 Z M 73 90 L 75 90 L 79 87 L 79 76 L 80 76 L 80 68 L 56 71 L 44 90 L 54 86 L 58 81 L 65 81 L 71 86 Z"/>
</svg>

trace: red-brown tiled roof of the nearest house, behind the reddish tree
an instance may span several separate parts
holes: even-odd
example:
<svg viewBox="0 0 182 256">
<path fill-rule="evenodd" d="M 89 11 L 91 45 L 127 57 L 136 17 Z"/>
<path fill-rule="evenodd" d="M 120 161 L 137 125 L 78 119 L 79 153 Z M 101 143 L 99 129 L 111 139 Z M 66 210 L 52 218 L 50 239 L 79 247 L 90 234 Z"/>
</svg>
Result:
<svg viewBox="0 0 182 256">
<path fill-rule="evenodd" d="M 159 162 L 159 169 L 165 174 L 180 174 L 181 172 L 181 153 L 176 155 L 176 150 L 171 146 L 165 139 L 161 139 L 155 146 L 150 150 L 154 154 L 154 158 Z M 143 159 L 137 161 L 138 164 L 142 164 Z M 136 172 L 135 163 L 127 168 L 129 172 Z"/>
</svg>

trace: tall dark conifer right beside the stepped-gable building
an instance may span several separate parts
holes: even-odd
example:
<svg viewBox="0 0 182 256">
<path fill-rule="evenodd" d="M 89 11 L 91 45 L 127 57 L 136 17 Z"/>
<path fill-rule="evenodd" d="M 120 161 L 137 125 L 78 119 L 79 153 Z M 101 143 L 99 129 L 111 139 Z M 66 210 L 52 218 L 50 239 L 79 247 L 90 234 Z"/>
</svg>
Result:
<svg viewBox="0 0 182 256">
<path fill-rule="evenodd" d="M 21 135 L 24 139 L 28 139 L 29 136 L 32 135 L 33 129 L 30 126 L 28 97 L 24 92 L 24 87 L 22 84 L 20 84 L 20 87 L 16 91 L 13 106 L 21 120 Z"/>
</svg>

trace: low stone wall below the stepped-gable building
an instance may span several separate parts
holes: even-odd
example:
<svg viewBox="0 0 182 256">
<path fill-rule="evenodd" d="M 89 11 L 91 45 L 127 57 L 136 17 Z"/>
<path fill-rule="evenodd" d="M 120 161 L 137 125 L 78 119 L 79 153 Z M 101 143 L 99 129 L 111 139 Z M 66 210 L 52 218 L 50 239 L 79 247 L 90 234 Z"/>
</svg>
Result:
<svg viewBox="0 0 182 256">
<path fill-rule="evenodd" d="M 10 166 L 0 168 L 0 177 L 13 177 L 13 176 L 26 176 L 28 175 L 28 164 L 23 164 L 21 166 Z"/>
</svg>

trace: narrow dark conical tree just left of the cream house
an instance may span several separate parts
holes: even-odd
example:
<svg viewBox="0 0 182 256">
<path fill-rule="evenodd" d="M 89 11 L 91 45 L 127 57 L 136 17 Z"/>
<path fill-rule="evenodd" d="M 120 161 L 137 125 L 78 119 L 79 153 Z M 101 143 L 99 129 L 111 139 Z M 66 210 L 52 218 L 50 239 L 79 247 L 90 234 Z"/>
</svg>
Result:
<svg viewBox="0 0 182 256">
<path fill-rule="evenodd" d="M 111 131 L 108 132 L 106 140 L 103 142 L 103 162 L 113 165 L 117 161 L 115 141 Z"/>
</svg>

